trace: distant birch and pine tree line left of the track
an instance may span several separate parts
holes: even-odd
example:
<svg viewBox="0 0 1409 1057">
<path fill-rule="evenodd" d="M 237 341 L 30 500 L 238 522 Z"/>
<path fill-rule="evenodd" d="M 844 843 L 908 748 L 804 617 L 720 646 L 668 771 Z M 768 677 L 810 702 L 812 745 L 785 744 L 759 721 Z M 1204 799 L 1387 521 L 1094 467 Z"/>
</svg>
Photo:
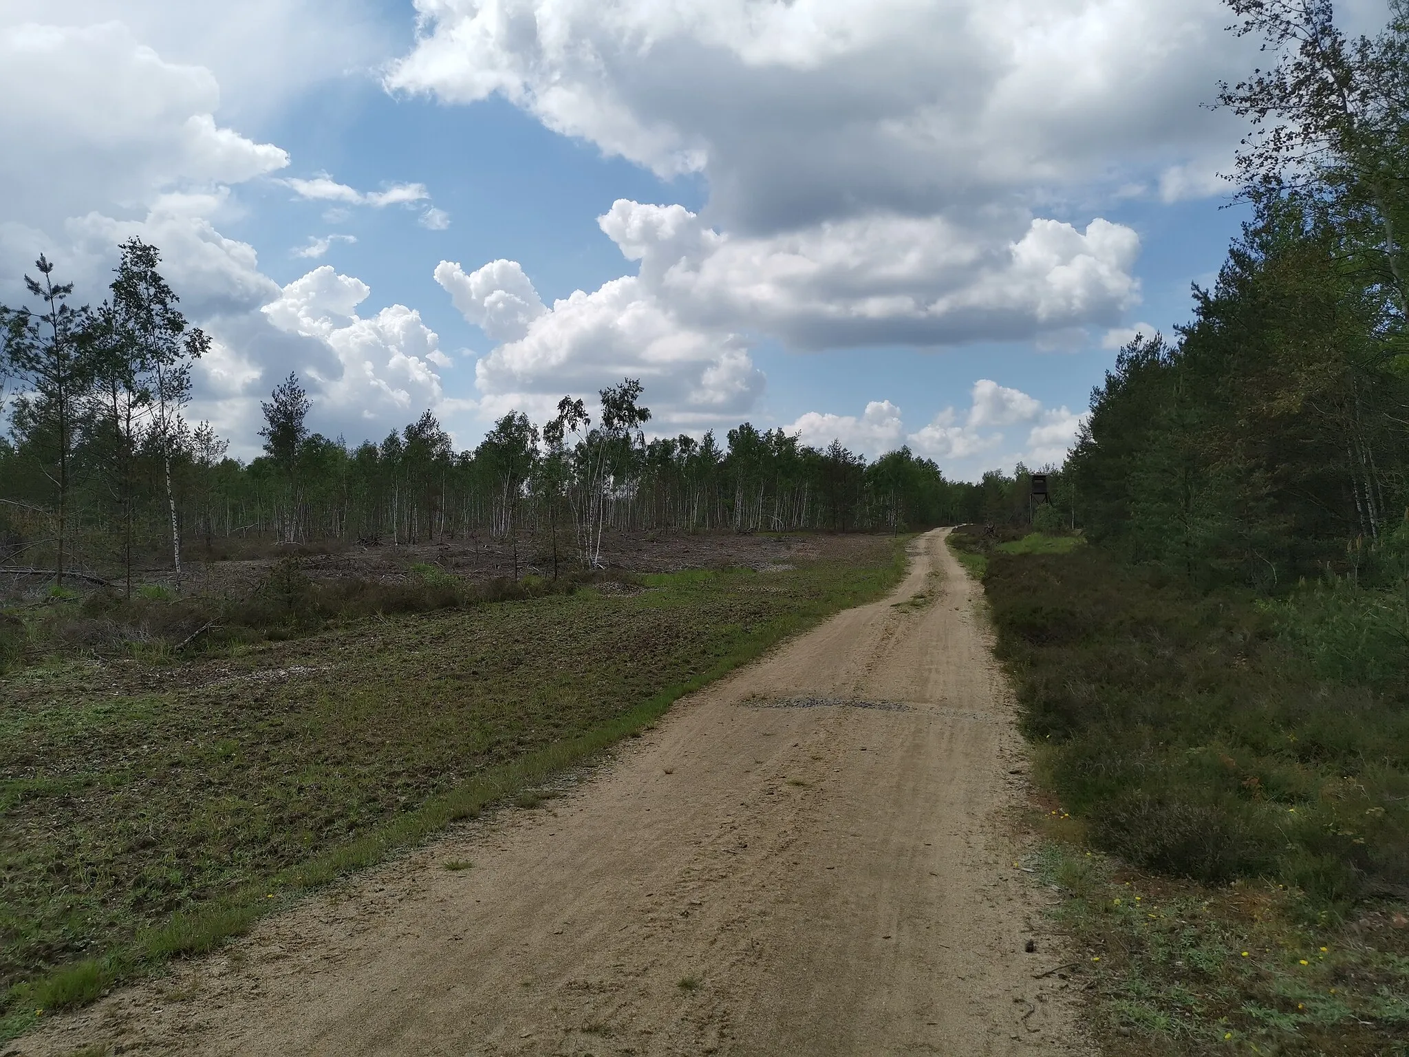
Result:
<svg viewBox="0 0 1409 1057">
<path fill-rule="evenodd" d="M 37 307 L 0 306 L 0 569 L 101 578 L 132 591 L 142 569 L 180 579 L 183 554 L 232 541 L 421 544 L 506 540 L 541 562 L 595 565 L 603 533 L 902 531 L 1026 517 L 1026 469 L 948 481 L 909 448 L 868 461 L 840 441 L 802 444 L 750 423 L 647 438 L 640 382 L 599 392 L 593 421 L 566 396 L 547 423 L 499 419 L 457 451 L 431 412 L 380 441 L 349 445 L 309 427 L 294 373 L 262 402 L 262 452 L 244 462 L 209 423 L 185 417 L 192 364 L 209 338 L 182 316 L 161 254 L 123 244 L 110 297 L 70 304 L 39 258 Z M 0 390 L 0 396 L 3 396 Z"/>
</svg>

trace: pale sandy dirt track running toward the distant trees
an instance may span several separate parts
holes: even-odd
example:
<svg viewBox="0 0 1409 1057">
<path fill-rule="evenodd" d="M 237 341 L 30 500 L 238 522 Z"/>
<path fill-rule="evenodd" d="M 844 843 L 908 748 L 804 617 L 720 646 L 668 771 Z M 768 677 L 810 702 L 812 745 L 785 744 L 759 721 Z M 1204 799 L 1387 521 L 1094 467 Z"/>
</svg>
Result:
<svg viewBox="0 0 1409 1057">
<path fill-rule="evenodd" d="M 1086 1053 L 1065 982 L 1034 979 L 1064 958 L 1013 870 L 1023 754 L 978 588 L 941 533 L 912 552 L 892 598 L 682 700 L 548 809 L 4 1053 Z"/>
</svg>

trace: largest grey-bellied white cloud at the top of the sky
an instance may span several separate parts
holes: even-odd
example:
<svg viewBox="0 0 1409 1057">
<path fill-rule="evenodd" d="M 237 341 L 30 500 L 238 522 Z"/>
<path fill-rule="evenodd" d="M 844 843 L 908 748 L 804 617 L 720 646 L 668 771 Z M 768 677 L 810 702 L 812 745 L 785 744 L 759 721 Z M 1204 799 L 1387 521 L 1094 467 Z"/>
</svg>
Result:
<svg viewBox="0 0 1409 1057">
<path fill-rule="evenodd" d="M 730 228 L 958 216 L 1236 142 L 1200 110 L 1248 49 L 1217 0 L 416 0 L 395 90 L 502 96 Z"/>
</svg>

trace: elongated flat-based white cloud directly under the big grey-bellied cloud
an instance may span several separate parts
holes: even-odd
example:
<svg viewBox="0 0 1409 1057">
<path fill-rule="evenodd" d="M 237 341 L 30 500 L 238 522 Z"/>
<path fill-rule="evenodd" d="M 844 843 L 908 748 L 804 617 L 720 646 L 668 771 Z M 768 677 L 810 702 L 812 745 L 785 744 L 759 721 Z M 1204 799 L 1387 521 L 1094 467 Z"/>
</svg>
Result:
<svg viewBox="0 0 1409 1057">
<path fill-rule="evenodd" d="M 1003 245 L 895 214 L 728 235 L 681 206 L 624 199 L 599 223 L 682 319 L 802 348 L 1033 337 L 1112 321 L 1138 299 L 1138 235 L 1105 220 L 1033 220 Z"/>
</svg>

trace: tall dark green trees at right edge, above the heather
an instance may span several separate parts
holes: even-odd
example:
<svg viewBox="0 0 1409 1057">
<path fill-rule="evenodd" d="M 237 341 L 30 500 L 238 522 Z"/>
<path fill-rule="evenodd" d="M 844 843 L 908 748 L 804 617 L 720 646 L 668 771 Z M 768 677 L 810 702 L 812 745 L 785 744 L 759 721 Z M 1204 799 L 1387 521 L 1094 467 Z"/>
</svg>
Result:
<svg viewBox="0 0 1409 1057">
<path fill-rule="evenodd" d="M 1091 538 L 1275 595 L 1353 572 L 1347 541 L 1378 545 L 1409 503 L 1409 17 L 1351 41 L 1324 0 L 1229 6 L 1267 42 L 1220 94 L 1254 118 L 1253 220 L 1178 341 L 1122 350 L 1067 469 Z"/>
</svg>

